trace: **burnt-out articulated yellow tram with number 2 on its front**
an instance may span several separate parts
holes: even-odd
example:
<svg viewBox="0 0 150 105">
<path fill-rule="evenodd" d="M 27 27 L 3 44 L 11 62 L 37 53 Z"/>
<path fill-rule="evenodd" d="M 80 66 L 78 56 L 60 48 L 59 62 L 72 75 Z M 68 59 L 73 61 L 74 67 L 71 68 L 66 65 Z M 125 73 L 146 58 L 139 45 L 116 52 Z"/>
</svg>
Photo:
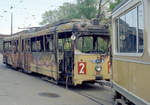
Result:
<svg viewBox="0 0 150 105">
<path fill-rule="evenodd" d="M 109 80 L 108 27 L 89 20 L 62 20 L 3 42 L 3 63 L 57 83 Z"/>
</svg>

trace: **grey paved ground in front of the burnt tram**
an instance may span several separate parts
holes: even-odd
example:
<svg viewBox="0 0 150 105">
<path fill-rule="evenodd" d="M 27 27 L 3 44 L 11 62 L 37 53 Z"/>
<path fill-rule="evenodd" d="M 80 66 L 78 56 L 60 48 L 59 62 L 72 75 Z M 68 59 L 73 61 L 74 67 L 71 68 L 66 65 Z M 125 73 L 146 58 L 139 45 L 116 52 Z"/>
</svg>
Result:
<svg viewBox="0 0 150 105">
<path fill-rule="evenodd" d="M 112 105 L 112 97 L 109 88 L 84 85 L 68 90 L 12 70 L 0 61 L 0 105 Z"/>
</svg>

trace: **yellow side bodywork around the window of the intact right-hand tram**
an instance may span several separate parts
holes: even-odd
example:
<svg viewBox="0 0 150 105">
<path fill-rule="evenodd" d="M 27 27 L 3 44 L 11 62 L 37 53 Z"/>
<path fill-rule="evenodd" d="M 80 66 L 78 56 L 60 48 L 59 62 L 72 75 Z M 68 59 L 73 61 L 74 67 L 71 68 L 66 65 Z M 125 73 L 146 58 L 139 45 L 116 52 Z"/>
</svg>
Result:
<svg viewBox="0 0 150 105">
<path fill-rule="evenodd" d="M 138 2 L 138 1 L 132 1 Z M 113 55 L 113 82 L 114 89 L 122 96 L 137 105 L 149 105 L 150 103 L 150 57 L 149 57 L 149 10 L 150 1 L 144 0 L 144 51 L 140 56 L 132 55 Z M 128 4 L 128 5 L 129 5 Z M 127 8 L 126 6 L 124 8 Z M 123 10 L 122 10 L 123 11 Z M 118 12 L 119 13 L 119 12 Z M 115 23 L 115 22 L 113 22 Z M 113 24 L 113 29 L 115 25 Z M 113 41 L 115 39 L 115 30 L 113 30 Z M 115 42 L 113 42 L 115 43 Z M 115 44 L 113 44 L 115 45 Z M 113 51 L 115 47 L 113 46 Z M 130 55 L 130 54 L 129 54 Z"/>
</svg>

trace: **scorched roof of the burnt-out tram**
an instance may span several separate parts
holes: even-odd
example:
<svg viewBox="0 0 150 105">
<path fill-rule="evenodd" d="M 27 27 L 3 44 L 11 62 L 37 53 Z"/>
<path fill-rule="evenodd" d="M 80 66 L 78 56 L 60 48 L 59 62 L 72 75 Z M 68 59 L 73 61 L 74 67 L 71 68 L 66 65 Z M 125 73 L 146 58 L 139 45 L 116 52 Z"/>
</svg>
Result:
<svg viewBox="0 0 150 105">
<path fill-rule="evenodd" d="M 87 19 L 69 19 L 38 27 L 34 32 L 19 32 L 6 39 L 15 39 L 19 36 L 22 38 L 30 38 L 34 36 L 53 34 L 55 32 L 83 32 L 86 34 L 109 36 L 108 27 L 106 25 L 99 25 L 95 21 Z"/>
</svg>

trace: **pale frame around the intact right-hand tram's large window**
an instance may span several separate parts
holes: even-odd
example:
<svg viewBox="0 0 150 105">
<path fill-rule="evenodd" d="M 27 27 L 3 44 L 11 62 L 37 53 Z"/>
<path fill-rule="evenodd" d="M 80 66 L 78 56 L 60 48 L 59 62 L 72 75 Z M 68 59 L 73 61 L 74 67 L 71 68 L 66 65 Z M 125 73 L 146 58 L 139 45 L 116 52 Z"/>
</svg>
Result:
<svg viewBox="0 0 150 105">
<path fill-rule="evenodd" d="M 143 30 L 144 30 L 144 20 L 143 20 L 143 18 L 144 18 L 144 13 L 143 13 L 143 4 L 142 3 L 139 3 L 138 5 L 136 5 L 134 8 L 132 8 L 132 9 L 130 9 L 129 11 L 127 11 L 125 14 L 123 14 L 123 15 L 121 15 L 121 16 L 119 16 L 119 17 L 117 17 L 116 19 L 115 19 L 115 40 L 117 40 L 115 43 L 115 47 L 116 47 L 116 50 L 115 50 L 115 54 L 120 54 L 120 55 L 128 55 L 128 56 L 141 56 L 142 54 L 143 54 L 143 51 L 144 51 L 144 31 L 142 32 L 142 45 L 139 45 L 140 43 L 139 43 L 139 7 L 142 7 L 141 8 L 141 10 L 142 10 L 142 14 L 141 14 L 141 16 L 142 16 L 142 19 L 141 19 L 141 21 L 142 21 L 142 26 L 143 26 Z M 136 11 L 136 20 L 135 20 L 135 24 L 136 24 L 136 29 L 135 29 L 135 37 L 136 37 L 136 50 L 135 50 L 135 52 L 133 52 L 133 51 L 120 51 L 120 18 L 122 17 L 122 16 L 125 16 L 125 18 L 127 18 L 127 15 L 130 13 L 130 12 L 132 12 L 133 10 L 135 10 Z M 129 17 L 129 18 L 131 18 L 131 16 Z M 125 22 L 126 22 L 126 20 L 127 19 L 125 19 Z M 127 27 L 125 27 L 125 28 L 127 28 Z M 130 28 L 131 29 L 131 28 Z M 127 31 L 128 33 L 129 33 L 129 31 Z M 125 33 L 125 35 L 126 35 L 126 33 Z M 125 36 L 124 35 L 124 36 Z M 130 36 L 130 35 L 129 35 Z M 125 37 L 126 38 L 126 37 Z M 131 41 L 130 41 L 131 42 Z M 141 48 L 141 46 L 142 46 L 142 50 L 140 49 Z M 133 49 L 132 49 L 133 50 Z"/>
</svg>

